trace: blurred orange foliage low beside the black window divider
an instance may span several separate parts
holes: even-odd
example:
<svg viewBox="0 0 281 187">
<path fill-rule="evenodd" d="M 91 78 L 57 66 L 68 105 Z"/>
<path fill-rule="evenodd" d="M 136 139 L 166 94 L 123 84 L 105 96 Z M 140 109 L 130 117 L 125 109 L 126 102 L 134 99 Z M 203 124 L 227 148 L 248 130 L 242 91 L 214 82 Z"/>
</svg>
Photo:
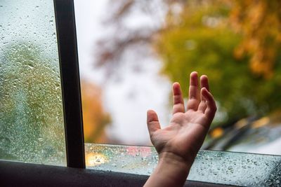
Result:
<svg viewBox="0 0 281 187">
<path fill-rule="evenodd" d="M 106 143 L 105 127 L 111 121 L 103 109 L 102 92 L 89 81 L 81 81 L 84 140 L 86 143 Z"/>
</svg>

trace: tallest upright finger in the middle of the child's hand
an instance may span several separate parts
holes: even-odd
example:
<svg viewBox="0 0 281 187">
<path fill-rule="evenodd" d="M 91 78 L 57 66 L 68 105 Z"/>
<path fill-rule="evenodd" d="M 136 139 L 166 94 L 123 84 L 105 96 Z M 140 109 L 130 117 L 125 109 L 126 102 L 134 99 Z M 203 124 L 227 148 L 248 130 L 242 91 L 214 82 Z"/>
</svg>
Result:
<svg viewBox="0 0 281 187">
<path fill-rule="evenodd" d="M 187 109 L 197 111 L 198 105 L 200 103 L 200 93 L 198 89 L 198 74 L 193 71 L 190 74 L 190 86 L 189 86 L 189 97 Z"/>
</svg>

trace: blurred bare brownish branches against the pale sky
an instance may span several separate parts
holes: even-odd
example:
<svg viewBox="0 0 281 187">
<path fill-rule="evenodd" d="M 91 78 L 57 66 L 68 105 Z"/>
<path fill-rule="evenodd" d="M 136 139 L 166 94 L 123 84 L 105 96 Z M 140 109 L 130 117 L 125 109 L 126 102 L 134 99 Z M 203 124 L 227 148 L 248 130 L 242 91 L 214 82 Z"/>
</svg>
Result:
<svg viewBox="0 0 281 187">
<path fill-rule="evenodd" d="M 107 17 L 104 20 L 105 36 L 96 44 L 96 67 L 104 67 L 107 76 L 118 74 L 115 69 L 122 62 L 124 54 L 130 50 L 136 59 L 144 59 L 152 52 L 154 33 L 161 29 L 166 4 L 158 0 L 110 0 Z M 132 18 L 133 17 L 133 18 Z M 145 17 L 148 22 L 158 24 L 131 25 L 134 19 Z M 159 22 L 162 20 L 162 22 Z M 138 21 L 138 20 L 136 20 Z M 134 63 L 141 69 L 141 63 Z"/>
</svg>

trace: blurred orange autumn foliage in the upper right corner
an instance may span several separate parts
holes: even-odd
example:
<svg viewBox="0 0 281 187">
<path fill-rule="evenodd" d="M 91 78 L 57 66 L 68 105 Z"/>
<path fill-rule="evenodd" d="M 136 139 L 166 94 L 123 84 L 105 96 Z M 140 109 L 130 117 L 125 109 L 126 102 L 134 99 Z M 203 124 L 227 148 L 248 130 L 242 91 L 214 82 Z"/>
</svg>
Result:
<svg viewBox="0 0 281 187">
<path fill-rule="evenodd" d="M 281 1 L 233 1 L 230 22 L 242 34 L 235 55 L 249 55 L 254 74 L 272 78 L 281 44 Z"/>
</svg>

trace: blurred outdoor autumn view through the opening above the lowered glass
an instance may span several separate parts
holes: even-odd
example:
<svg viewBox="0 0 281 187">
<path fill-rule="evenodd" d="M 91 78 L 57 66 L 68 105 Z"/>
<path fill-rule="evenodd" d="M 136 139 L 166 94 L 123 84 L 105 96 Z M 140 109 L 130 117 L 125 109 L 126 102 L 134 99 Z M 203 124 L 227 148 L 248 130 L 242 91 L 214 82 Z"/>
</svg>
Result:
<svg viewBox="0 0 281 187">
<path fill-rule="evenodd" d="M 281 153 L 281 2 L 75 1 L 85 141 L 150 145 L 146 111 L 209 76 L 218 112 L 202 148 Z"/>
</svg>

